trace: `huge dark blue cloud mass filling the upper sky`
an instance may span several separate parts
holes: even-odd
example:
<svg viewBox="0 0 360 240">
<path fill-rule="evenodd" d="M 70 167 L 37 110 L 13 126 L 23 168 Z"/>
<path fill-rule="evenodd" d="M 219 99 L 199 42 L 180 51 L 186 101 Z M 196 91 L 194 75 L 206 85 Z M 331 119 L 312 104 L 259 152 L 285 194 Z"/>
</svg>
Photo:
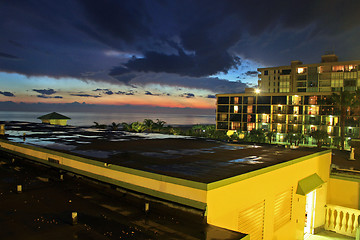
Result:
<svg viewBox="0 0 360 240">
<path fill-rule="evenodd" d="M 357 0 L 4 1 L 0 71 L 119 84 L 139 73 L 169 73 L 189 87 L 189 77 L 202 81 L 244 59 L 314 63 L 335 50 L 353 60 L 360 56 L 359 8 Z"/>
</svg>

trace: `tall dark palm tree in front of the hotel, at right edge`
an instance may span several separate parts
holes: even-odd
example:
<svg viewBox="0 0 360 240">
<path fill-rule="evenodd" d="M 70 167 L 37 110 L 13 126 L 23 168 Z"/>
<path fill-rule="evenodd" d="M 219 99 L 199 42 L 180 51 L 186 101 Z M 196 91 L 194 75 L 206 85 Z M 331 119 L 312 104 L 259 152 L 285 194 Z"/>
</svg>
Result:
<svg viewBox="0 0 360 240">
<path fill-rule="evenodd" d="M 340 110 L 340 147 L 344 150 L 345 147 L 345 120 L 346 116 L 350 115 L 350 110 L 355 108 L 360 103 L 360 90 L 355 92 L 340 91 L 339 94 L 333 93 L 330 97 L 318 101 L 321 105 L 333 105 Z"/>
</svg>

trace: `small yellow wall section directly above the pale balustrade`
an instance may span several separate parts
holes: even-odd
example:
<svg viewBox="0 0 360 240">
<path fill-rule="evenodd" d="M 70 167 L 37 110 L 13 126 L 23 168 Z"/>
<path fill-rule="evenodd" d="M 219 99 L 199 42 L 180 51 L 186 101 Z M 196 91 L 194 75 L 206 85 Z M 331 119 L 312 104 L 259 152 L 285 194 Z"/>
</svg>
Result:
<svg viewBox="0 0 360 240">
<path fill-rule="evenodd" d="M 328 203 L 359 209 L 359 183 L 351 180 L 330 178 Z"/>
</svg>

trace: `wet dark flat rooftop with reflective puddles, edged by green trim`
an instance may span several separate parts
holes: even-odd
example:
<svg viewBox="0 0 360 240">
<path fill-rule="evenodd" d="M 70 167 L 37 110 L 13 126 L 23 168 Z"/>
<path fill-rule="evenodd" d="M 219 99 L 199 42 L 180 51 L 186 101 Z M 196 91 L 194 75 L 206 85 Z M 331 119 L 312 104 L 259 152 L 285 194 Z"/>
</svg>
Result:
<svg viewBox="0 0 360 240">
<path fill-rule="evenodd" d="M 241 145 L 150 133 L 128 133 L 40 123 L 5 123 L 13 142 L 40 146 L 87 159 L 211 183 L 320 152 L 277 145 Z M 24 138 L 25 133 L 25 138 Z"/>
</svg>

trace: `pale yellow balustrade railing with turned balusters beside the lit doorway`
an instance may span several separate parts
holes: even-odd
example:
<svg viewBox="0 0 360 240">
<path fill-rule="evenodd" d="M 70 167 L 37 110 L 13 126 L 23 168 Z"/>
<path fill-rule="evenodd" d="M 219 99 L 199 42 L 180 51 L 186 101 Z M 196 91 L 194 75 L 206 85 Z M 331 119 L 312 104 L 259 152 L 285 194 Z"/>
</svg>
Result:
<svg viewBox="0 0 360 240">
<path fill-rule="evenodd" d="M 359 227 L 359 216 L 360 210 L 327 204 L 325 230 L 355 237 L 356 229 Z"/>
</svg>

